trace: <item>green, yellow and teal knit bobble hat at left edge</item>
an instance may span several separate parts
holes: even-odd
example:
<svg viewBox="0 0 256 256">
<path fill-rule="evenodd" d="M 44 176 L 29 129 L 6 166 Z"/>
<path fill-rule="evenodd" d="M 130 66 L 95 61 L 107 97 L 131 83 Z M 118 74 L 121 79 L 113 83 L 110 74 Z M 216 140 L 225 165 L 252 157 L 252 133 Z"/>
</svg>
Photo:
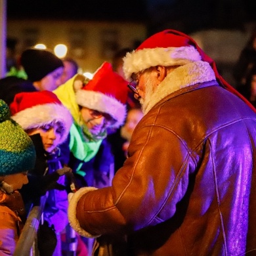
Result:
<svg viewBox="0 0 256 256">
<path fill-rule="evenodd" d="M 35 148 L 30 137 L 11 119 L 7 104 L 0 100 L 0 176 L 33 169 Z"/>
</svg>

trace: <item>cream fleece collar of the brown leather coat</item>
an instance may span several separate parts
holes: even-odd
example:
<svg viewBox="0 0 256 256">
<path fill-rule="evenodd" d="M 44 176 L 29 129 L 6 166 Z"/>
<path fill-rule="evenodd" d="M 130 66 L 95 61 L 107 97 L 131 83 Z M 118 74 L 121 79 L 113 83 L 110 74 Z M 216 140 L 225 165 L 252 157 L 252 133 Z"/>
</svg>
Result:
<svg viewBox="0 0 256 256">
<path fill-rule="evenodd" d="M 165 77 L 152 97 L 145 100 L 143 112 L 147 114 L 161 99 L 179 89 L 213 80 L 216 80 L 215 73 L 208 62 L 198 61 L 180 66 Z"/>
</svg>

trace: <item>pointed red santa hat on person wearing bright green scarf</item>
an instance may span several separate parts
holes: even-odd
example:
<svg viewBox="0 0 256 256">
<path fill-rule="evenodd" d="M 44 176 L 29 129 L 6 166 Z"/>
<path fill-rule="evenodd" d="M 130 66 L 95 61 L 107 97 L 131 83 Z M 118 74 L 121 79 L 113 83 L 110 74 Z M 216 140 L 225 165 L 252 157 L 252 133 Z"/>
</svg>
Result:
<svg viewBox="0 0 256 256">
<path fill-rule="evenodd" d="M 112 65 L 104 62 L 96 70 L 93 79 L 76 92 L 80 106 L 110 114 L 119 127 L 125 121 L 128 82 L 113 71 Z"/>
</svg>

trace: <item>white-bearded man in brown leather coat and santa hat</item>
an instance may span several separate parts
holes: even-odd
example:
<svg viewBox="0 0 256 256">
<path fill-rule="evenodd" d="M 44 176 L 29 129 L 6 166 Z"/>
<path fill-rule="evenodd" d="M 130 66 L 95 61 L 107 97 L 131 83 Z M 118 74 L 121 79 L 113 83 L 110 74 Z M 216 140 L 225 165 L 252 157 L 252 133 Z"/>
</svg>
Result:
<svg viewBox="0 0 256 256">
<path fill-rule="evenodd" d="M 127 53 L 123 70 L 144 117 L 112 186 L 70 196 L 71 225 L 125 235 L 122 255 L 255 255 L 255 108 L 175 30 Z"/>
</svg>

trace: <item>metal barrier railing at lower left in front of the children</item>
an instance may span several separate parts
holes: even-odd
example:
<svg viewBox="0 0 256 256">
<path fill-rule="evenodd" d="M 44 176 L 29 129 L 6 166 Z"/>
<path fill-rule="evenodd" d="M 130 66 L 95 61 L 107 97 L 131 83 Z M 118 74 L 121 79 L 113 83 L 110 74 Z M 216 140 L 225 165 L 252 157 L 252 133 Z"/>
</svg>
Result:
<svg viewBox="0 0 256 256">
<path fill-rule="evenodd" d="M 35 245 L 37 240 L 37 230 L 45 207 L 46 198 L 46 196 L 42 196 L 39 202 L 32 207 L 18 243 L 16 244 L 13 256 L 39 255 L 37 247 L 33 245 Z"/>
</svg>

